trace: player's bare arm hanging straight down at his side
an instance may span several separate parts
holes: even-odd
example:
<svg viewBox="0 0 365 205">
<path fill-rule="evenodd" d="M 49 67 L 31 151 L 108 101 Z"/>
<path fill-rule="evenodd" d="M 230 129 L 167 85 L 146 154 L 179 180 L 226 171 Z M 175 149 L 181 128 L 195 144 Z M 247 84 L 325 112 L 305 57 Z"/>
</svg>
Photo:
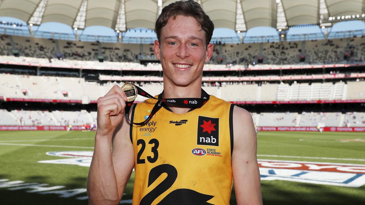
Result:
<svg viewBox="0 0 365 205">
<path fill-rule="evenodd" d="M 262 204 L 252 116 L 237 106 L 233 109 L 233 134 L 232 172 L 237 204 Z"/>
</svg>

